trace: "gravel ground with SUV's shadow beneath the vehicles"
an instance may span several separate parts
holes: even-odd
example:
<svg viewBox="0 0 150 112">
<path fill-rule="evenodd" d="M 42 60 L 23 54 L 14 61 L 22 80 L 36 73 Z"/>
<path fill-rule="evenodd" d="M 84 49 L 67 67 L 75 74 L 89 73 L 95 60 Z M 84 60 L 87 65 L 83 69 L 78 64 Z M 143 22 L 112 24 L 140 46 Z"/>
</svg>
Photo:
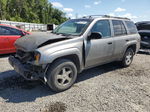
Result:
<svg viewBox="0 0 150 112">
<path fill-rule="evenodd" d="M 128 68 L 110 63 L 86 70 L 61 93 L 25 81 L 1 56 L 0 112 L 150 112 L 150 55 L 137 54 Z"/>
</svg>

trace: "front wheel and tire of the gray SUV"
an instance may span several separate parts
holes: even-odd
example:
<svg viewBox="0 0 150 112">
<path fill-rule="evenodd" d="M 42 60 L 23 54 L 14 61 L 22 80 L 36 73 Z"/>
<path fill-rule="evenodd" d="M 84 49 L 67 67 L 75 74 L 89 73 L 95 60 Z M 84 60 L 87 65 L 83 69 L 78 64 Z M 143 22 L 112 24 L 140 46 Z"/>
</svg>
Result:
<svg viewBox="0 0 150 112">
<path fill-rule="evenodd" d="M 59 59 L 49 67 L 47 72 L 47 83 L 55 92 L 69 89 L 76 81 L 76 65 L 67 59 Z"/>
</svg>

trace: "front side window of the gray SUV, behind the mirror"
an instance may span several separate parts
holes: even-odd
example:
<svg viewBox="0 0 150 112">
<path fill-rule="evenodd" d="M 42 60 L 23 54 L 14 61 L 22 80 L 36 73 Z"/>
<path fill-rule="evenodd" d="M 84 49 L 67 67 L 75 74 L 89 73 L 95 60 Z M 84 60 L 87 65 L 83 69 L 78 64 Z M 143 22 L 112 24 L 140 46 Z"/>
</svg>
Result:
<svg viewBox="0 0 150 112">
<path fill-rule="evenodd" d="M 100 20 L 93 26 L 92 32 L 100 32 L 102 34 L 102 37 L 110 37 L 111 36 L 111 30 L 110 30 L 110 24 L 108 20 Z"/>
</svg>

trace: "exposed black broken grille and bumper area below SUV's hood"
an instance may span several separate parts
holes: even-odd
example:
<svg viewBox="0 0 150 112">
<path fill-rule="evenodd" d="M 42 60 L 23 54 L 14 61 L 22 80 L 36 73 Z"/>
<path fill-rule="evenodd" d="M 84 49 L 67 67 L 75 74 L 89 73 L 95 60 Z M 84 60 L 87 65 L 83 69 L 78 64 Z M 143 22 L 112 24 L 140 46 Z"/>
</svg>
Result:
<svg viewBox="0 0 150 112">
<path fill-rule="evenodd" d="M 17 50 L 15 56 L 9 57 L 9 63 L 13 66 L 15 71 L 22 75 L 26 80 L 43 79 L 45 68 L 37 66 L 36 53 L 24 52 Z"/>
</svg>

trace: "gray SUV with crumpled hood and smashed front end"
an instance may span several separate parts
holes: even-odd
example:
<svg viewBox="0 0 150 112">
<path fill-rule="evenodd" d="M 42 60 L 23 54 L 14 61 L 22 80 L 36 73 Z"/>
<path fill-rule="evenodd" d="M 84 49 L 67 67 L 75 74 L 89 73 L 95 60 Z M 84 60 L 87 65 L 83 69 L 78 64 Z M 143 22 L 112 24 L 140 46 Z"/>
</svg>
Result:
<svg viewBox="0 0 150 112">
<path fill-rule="evenodd" d="M 140 36 L 127 18 L 87 16 L 68 20 L 50 34 L 24 36 L 15 46 L 15 56 L 9 57 L 15 71 L 60 92 L 85 69 L 113 61 L 128 67 L 140 48 Z"/>
</svg>

